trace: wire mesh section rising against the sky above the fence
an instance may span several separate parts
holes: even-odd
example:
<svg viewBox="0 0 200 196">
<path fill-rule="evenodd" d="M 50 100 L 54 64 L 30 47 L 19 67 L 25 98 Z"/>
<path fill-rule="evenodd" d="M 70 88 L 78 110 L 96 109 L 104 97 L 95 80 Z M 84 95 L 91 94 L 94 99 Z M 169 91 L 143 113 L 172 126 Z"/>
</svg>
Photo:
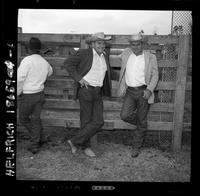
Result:
<svg viewBox="0 0 200 196">
<path fill-rule="evenodd" d="M 192 34 L 192 12 L 191 11 L 173 11 L 171 30 L 172 30 L 173 35 Z"/>
</svg>

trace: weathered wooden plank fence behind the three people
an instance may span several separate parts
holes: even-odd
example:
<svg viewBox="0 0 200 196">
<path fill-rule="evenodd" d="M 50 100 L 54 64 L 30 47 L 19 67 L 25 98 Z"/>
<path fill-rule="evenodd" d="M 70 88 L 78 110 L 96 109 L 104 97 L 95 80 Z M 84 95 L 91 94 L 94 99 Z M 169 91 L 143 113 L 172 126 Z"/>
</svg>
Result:
<svg viewBox="0 0 200 196">
<path fill-rule="evenodd" d="M 42 111 L 44 126 L 79 127 L 79 102 L 72 99 L 73 80 L 63 67 L 64 60 L 78 48 L 86 48 L 81 34 L 28 34 L 18 33 L 18 65 L 28 54 L 30 37 L 38 37 L 43 44 L 45 59 L 54 73 L 46 82 L 46 102 Z M 120 71 L 117 57 L 128 47 L 126 37 L 112 35 L 110 63 Z M 148 129 L 172 131 L 174 150 L 181 148 L 183 131 L 191 129 L 191 68 L 192 47 L 190 36 L 146 36 L 146 49 L 157 56 L 159 82 L 155 91 L 155 103 L 148 114 Z M 120 119 L 122 100 L 116 96 L 117 82 L 112 81 L 112 98 L 104 100 L 105 125 L 103 129 L 133 129 L 134 126 Z"/>
</svg>

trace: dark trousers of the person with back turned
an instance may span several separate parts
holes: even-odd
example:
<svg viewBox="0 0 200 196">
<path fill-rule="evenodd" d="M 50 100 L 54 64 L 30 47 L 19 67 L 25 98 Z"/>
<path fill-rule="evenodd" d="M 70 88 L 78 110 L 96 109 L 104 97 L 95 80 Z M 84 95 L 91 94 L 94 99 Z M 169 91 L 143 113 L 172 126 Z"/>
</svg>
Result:
<svg viewBox="0 0 200 196">
<path fill-rule="evenodd" d="M 32 147 L 36 147 L 44 139 L 40 119 L 43 104 L 43 91 L 34 94 L 22 94 L 19 103 L 19 121 L 29 131 Z"/>
</svg>

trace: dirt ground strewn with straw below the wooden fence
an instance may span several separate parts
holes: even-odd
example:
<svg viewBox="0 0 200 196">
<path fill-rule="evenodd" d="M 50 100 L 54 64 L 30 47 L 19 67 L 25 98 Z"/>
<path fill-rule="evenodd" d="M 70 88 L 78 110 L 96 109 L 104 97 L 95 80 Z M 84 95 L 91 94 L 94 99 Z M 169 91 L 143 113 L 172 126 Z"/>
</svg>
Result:
<svg viewBox="0 0 200 196">
<path fill-rule="evenodd" d="M 51 129 L 48 143 L 37 154 L 27 150 L 26 132 L 17 133 L 17 180 L 189 182 L 191 150 L 183 145 L 178 153 L 157 145 L 146 145 L 137 158 L 131 157 L 130 135 L 103 131 L 94 149 L 97 157 L 79 151 L 71 154 L 66 141 L 74 130 Z"/>
</svg>

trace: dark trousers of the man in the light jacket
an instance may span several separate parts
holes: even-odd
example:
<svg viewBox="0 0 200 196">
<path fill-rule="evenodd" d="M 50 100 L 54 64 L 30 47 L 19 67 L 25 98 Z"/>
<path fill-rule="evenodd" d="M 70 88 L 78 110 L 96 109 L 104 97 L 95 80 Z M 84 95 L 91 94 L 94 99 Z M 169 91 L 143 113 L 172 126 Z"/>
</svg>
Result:
<svg viewBox="0 0 200 196">
<path fill-rule="evenodd" d="M 127 88 L 120 114 L 123 121 L 136 125 L 136 130 L 133 131 L 132 135 L 133 146 L 136 148 L 142 146 L 147 130 L 149 104 L 148 100 L 143 98 L 144 89 Z"/>
</svg>

